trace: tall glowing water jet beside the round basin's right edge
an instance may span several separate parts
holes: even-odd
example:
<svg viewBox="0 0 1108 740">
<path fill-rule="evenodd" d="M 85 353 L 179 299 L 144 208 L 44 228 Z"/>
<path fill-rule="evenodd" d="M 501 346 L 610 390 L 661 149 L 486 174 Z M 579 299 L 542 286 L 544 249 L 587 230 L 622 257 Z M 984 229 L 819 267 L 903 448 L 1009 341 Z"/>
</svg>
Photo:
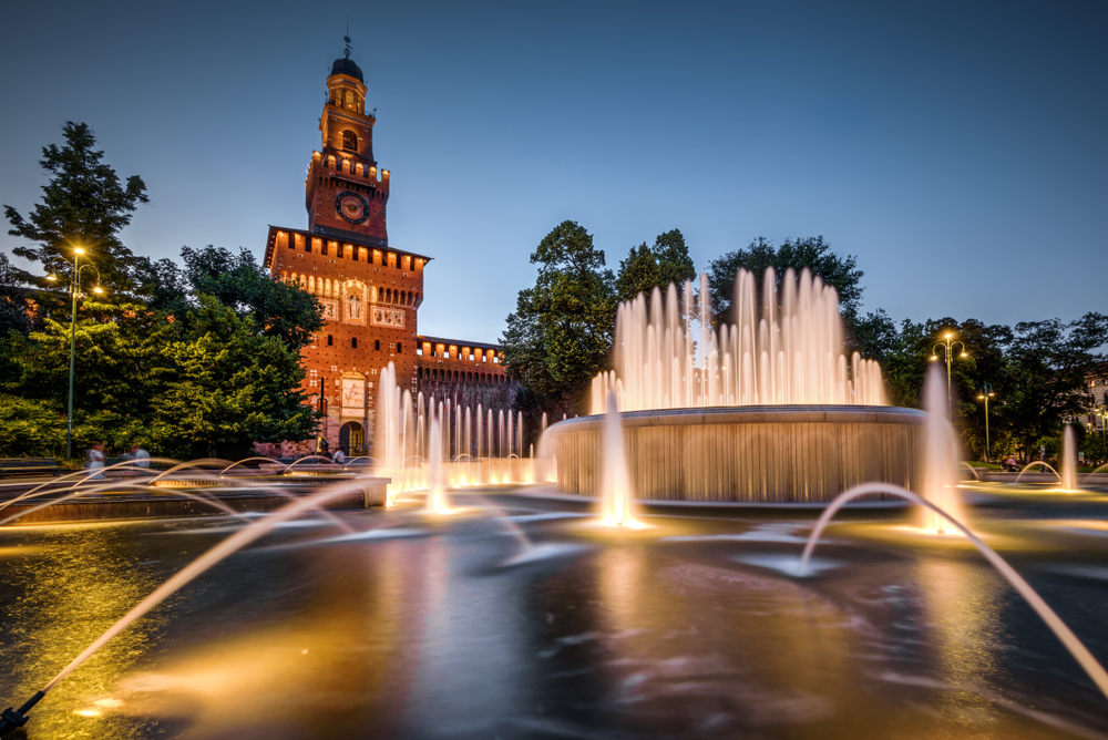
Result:
<svg viewBox="0 0 1108 740">
<path fill-rule="evenodd" d="M 946 399 L 946 377 L 937 364 L 927 372 L 923 387 L 923 405 L 927 412 L 924 428 L 923 497 L 960 522 L 962 496 L 958 493 L 958 444 L 954 426 L 946 418 L 950 404 Z M 940 534 L 945 532 L 945 520 L 924 508 L 922 526 Z"/>
</svg>

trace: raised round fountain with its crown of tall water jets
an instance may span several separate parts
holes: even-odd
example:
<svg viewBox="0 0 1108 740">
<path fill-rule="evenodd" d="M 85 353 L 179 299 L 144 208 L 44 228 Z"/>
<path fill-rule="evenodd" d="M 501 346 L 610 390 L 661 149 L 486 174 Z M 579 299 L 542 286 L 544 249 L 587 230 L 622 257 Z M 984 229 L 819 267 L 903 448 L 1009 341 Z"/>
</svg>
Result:
<svg viewBox="0 0 1108 740">
<path fill-rule="evenodd" d="M 843 349 L 834 288 L 808 270 L 766 271 L 761 292 L 740 270 L 736 323 L 710 328 L 701 276 L 699 323 L 670 285 L 619 307 L 614 369 L 593 381 L 593 414 L 544 439 L 564 493 L 598 494 L 605 399 L 623 418 L 640 499 L 825 503 L 864 482 L 922 486 L 926 414 L 884 404 L 881 369 Z M 698 336 L 698 339 L 697 339 Z"/>
</svg>

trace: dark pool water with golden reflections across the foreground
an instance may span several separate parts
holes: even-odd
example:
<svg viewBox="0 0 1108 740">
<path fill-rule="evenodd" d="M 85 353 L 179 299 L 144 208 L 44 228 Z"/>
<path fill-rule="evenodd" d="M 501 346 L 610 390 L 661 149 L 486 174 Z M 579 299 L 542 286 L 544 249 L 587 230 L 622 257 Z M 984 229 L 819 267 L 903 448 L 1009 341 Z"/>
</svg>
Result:
<svg viewBox="0 0 1108 740">
<path fill-rule="evenodd" d="M 1108 738 L 1108 700 L 968 543 L 911 510 L 647 507 L 469 490 L 453 516 L 279 527 L 142 618 L 29 738 Z M 974 528 L 1108 662 L 1108 496 L 983 484 Z M 233 518 L 0 530 L 18 706 Z M 19 737 L 17 733 L 12 737 Z"/>
</svg>

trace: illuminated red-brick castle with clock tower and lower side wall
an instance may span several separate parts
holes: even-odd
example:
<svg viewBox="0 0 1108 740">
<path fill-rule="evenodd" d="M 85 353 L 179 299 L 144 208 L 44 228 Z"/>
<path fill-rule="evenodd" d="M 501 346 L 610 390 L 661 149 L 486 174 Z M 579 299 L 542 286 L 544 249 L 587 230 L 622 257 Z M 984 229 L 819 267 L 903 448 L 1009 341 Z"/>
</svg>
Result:
<svg viewBox="0 0 1108 740">
<path fill-rule="evenodd" d="M 308 227 L 270 226 L 265 256 L 274 278 L 299 282 L 324 305 L 325 326 L 301 354 L 305 389 L 327 412 L 321 435 L 330 448 L 353 454 L 367 454 L 376 381 L 389 362 L 413 397 L 497 411 L 510 409 L 515 393 L 497 346 L 418 332 L 431 258 L 389 245 L 389 171 L 373 160 L 377 119 L 366 113 L 366 92 L 348 50 L 327 78 L 322 146 L 311 153 L 305 183 Z M 280 452 L 314 450 L 306 440 Z"/>
</svg>

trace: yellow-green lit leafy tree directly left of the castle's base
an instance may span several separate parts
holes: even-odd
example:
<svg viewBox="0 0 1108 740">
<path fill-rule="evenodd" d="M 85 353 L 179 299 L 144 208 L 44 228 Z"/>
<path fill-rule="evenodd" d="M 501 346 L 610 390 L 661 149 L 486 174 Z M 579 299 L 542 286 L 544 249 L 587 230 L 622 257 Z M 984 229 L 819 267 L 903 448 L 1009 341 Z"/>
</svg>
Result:
<svg viewBox="0 0 1108 740">
<path fill-rule="evenodd" d="M 154 446 L 176 456 L 240 456 L 254 442 L 311 436 L 317 414 L 299 387 L 297 348 L 212 296 L 197 302 L 163 350 L 175 378 L 153 399 Z"/>
</svg>

